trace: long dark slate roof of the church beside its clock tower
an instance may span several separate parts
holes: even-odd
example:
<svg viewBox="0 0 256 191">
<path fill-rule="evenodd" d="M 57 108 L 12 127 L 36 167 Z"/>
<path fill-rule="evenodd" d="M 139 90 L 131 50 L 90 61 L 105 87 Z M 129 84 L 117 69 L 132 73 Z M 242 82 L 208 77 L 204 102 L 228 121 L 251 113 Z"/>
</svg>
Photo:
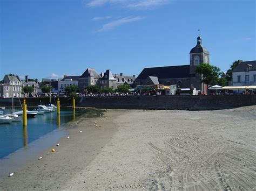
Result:
<svg viewBox="0 0 256 191">
<path fill-rule="evenodd" d="M 190 74 L 190 65 L 164 66 L 154 68 L 144 68 L 136 80 L 144 80 L 147 76 L 156 76 L 158 79 L 194 77 Z"/>
</svg>

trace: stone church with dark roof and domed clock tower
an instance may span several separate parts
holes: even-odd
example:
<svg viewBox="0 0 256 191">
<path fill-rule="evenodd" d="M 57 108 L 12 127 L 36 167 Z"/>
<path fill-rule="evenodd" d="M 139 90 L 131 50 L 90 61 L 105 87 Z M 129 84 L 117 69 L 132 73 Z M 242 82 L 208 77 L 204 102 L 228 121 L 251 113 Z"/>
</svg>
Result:
<svg viewBox="0 0 256 191">
<path fill-rule="evenodd" d="M 134 83 L 136 86 L 177 84 L 180 88 L 189 88 L 193 84 L 197 90 L 207 91 L 207 87 L 200 82 L 200 75 L 195 72 L 200 63 L 210 63 L 210 54 L 198 36 L 197 45 L 190 51 L 190 65 L 144 68 Z"/>
</svg>

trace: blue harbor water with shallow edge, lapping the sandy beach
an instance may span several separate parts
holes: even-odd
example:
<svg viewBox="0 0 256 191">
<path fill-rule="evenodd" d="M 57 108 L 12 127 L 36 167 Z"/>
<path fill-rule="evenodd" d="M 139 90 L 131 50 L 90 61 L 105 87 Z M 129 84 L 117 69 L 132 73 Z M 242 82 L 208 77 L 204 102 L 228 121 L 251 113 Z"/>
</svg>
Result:
<svg viewBox="0 0 256 191">
<path fill-rule="evenodd" d="M 12 108 L 5 108 L 4 114 L 10 113 Z M 15 108 L 19 111 L 21 108 Z M 32 108 L 28 108 L 32 110 Z M 46 148 L 56 144 L 58 139 L 68 135 L 68 122 L 75 121 L 81 115 L 90 113 L 90 109 L 61 108 L 60 116 L 57 112 L 49 112 L 28 118 L 28 126 L 21 122 L 0 124 L 0 176 L 6 175 L 26 161 L 37 157 Z M 94 113 L 93 117 L 99 115 Z M 87 115 L 91 117 L 91 115 Z"/>
</svg>

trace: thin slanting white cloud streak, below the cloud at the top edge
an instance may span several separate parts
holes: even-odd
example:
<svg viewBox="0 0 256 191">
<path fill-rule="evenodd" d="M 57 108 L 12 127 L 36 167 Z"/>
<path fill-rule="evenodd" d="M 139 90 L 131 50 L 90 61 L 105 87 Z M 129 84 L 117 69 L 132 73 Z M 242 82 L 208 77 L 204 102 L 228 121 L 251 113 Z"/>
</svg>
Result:
<svg viewBox="0 0 256 191">
<path fill-rule="evenodd" d="M 143 19 L 143 17 L 125 17 L 125 18 L 122 18 L 122 19 L 114 20 L 113 22 L 104 24 L 102 26 L 102 28 L 100 30 L 98 30 L 98 32 L 112 30 L 112 29 L 114 29 L 115 27 L 117 27 L 119 25 L 123 25 L 123 24 L 126 24 L 126 23 L 131 23 L 131 22 L 136 22 L 137 20 L 141 20 L 141 19 Z"/>
</svg>

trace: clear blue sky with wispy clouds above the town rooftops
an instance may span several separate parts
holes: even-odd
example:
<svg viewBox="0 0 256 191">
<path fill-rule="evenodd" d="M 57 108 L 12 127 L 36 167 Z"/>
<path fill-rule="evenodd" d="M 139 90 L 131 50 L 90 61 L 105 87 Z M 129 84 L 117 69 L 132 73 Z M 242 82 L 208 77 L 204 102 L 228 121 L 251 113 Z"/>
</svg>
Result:
<svg viewBox="0 0 256 191">
<path fill-rule="evenodd" d="M 1 0 L 0 75 L 187 65 L 198 29 L 211 65 L 255 60 L 254 0 Z"/>
</svg>

